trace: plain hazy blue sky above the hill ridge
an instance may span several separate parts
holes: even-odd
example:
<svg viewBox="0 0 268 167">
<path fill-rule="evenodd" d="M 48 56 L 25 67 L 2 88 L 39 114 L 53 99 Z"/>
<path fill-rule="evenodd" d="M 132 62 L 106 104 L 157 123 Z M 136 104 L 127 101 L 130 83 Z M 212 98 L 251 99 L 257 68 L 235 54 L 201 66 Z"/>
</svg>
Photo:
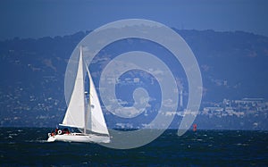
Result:
<svg viewBox="0 0 268 167">
<path fill-rule="evenodd" d="M 268 37 L 266 0 L 1 0 L 0 40 L 70 35 L 121 19 Z"/>
</svg>

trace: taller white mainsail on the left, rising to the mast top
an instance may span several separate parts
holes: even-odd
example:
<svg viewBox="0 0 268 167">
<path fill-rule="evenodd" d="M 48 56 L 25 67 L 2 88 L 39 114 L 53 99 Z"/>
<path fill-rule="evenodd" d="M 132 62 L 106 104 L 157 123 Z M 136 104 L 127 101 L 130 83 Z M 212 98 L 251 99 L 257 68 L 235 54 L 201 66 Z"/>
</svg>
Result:
<svg viewBox="0 0 268 167">
<path fill-rule="evenodd" d="M 71 94 L 71 100 L 65 113 L 63 124 L 64 126 L 84 128 L 85 127 L 85 87 L 84 87 L 84 61 L 80 49 L 80 59 L 78 71 Z"/>
</svg>

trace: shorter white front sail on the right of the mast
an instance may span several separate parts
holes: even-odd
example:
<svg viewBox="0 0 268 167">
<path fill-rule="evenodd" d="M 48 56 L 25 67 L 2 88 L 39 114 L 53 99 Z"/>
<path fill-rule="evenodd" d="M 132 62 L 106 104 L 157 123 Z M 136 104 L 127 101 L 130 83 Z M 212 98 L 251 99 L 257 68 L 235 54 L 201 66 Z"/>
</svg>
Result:
<svg viewBox="0 0 268 167">
<path fill-rule="evenodd" d="M 96 133 L 102 133 L 109 135 L 106 123 L 105 123 L 105 117 L 101 108 L 101 105 L 99 103 L 98 96 L 96 94 L 96 88 L 94 85 L 94 82 L 91 78 L 90 72 L 88 70 L 88 78 L 89 78 L 89 120 L 88 120 L 88 129 L 91 131 L 94 131 Z"/>
</svg>

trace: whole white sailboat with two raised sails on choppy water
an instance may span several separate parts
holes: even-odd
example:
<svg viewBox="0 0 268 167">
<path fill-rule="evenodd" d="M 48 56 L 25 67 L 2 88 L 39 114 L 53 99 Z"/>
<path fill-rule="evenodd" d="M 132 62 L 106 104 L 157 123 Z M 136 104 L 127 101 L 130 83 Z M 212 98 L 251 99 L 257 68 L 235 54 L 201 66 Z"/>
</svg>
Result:
<svg viewBox="0 0 268 167">
<path fill-rule="evenodd" d="M 85 73 L 89 79 L 89 97 L 85 91 Z M 86 142 L 110 143 L 110 135 L 105 123 L 105 117 L 96 94 L 96 88 L 91 78 L 88 66 L 83 60 L 83 50 L 80 46 L 78 71 L 71 94 L 71 100 L 60 126 L 79 129 L 80 132 L 70 132 L 69 129 L 56 129 L 48 133 L 48 142 Z"/>
</svg>

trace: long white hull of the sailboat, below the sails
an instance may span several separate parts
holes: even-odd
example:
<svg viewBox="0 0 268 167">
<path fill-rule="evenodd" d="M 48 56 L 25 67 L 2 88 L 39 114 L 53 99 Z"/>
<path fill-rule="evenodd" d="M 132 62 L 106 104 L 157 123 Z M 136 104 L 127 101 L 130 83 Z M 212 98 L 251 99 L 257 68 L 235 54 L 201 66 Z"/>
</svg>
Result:
<svg viewBox="0 0 268 167">
<path fill-rule="evenodd" d="M 80 143 L 110 143 L 110 137 L 98 136 L 94 134 L 70 133 L 54 135 L 47 139 L 48 142 L 80 142 Z"/>
</svg>

